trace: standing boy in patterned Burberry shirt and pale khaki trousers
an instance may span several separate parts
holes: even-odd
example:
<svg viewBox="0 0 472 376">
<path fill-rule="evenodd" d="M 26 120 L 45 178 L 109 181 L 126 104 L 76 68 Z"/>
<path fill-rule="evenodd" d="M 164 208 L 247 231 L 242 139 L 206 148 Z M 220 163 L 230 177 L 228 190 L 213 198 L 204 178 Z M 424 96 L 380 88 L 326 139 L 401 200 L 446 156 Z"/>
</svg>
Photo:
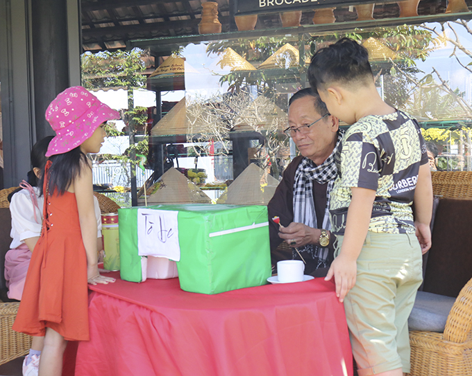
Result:
<svg viewBox="0 0 472 376">
<path fill-rule="evenodd" d="M 352 39 L 317 51 L 308 74 L 330 114 L 353 124 L 337 156 L 337 257 L 326 280 L 335 277 L 344 301 L 359 375 L 401 376 L 410 372 L 407 319 L 431 245 L 425 143 L 416 120 L 380 98 L 369 54 Z"/>
</svg>

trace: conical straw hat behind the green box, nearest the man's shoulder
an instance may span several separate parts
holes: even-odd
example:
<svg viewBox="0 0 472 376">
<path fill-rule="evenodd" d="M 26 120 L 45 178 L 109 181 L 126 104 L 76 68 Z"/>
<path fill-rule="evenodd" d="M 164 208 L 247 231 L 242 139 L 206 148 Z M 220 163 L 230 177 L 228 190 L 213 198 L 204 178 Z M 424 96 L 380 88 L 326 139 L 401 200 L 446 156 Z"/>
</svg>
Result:
<svg viewBox="0 0 472 376">
<path fill-rule="evenodd" d="M 277 179 L 251 163 L 219 197 L 217 204 L 267 205 L 277 186 Z"/>
</svg>

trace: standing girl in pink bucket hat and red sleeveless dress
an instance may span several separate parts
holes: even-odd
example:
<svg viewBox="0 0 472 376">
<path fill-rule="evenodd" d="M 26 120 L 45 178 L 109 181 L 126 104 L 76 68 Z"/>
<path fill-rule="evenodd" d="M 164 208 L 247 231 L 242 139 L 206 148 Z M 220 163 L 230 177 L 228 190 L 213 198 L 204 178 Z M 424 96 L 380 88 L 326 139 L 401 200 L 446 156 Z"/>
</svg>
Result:
<svg viewBox="0 0 472 376">
<path fill-rule="evenodd" d="M 67 341 L 88 341 L 87 283 L 115 282 L 97 267 L 97 224 L 92 166 L 87 153 L 100 151 L 107 120 L 117 111 L 83 87 L 62 91 L 46 119 L 56 131 L 42 174 L 40 239 L 31 257 L 13 330 L 44 336 L 39 375 L 61 375 Z"/>
</svg>

